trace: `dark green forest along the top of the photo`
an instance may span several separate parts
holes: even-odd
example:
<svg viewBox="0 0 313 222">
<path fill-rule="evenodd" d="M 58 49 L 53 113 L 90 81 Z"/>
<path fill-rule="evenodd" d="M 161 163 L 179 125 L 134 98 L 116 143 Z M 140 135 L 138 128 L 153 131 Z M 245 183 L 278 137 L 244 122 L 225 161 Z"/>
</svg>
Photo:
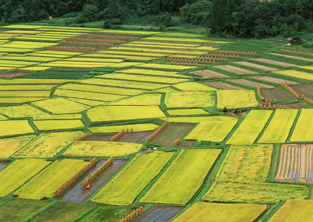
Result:
<svg viewBox="0 0 313 222">
<path fill-rule="evenodd" d="M 103 28 L 188 25 L 222 37 L 291 37 L 313 32 L 312 0 L 0 0 L 1 25 L 48 16 L 68 26 L 103 21 Z M 175 18 L 175 19 L 173 19 Z M 174 30 L 174 29 L 173 29 Z"/>
</svg>

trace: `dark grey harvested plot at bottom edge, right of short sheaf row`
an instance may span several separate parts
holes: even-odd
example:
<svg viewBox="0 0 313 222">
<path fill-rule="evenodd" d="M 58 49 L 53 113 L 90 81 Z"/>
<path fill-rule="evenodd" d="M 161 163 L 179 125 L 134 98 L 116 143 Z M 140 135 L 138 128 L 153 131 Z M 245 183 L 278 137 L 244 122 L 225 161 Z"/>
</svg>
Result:
<svg viewBox="0 0 313 222">
<path fill-rule="evenodd" d="M 133 222 L 167 222 L 184 207 L 153 205 L 138 217 L 132 219 Z"/>
</svg>

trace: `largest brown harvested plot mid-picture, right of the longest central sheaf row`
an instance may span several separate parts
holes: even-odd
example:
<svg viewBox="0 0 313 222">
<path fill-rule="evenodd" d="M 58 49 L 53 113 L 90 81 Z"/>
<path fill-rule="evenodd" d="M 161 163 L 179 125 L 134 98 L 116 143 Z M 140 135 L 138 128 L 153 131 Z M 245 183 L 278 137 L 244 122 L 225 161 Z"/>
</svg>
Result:
<svg viewBox="0 0 313 222">
<path fill-rule="evenodd" d="M 193 124 L 168 124 L 151 142 L 171 147 L 176 139 L 184 137 L 193 126 Z"/>
</svg>

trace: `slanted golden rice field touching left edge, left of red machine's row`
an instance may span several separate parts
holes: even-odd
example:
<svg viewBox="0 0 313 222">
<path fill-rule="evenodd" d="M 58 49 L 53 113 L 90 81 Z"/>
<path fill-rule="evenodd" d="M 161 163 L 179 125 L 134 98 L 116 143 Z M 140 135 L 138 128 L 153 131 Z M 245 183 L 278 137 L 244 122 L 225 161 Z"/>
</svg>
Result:
<svg viewBox="0 0 313 222">
<path fill-rule="evenodd" d="M 5 197 L 31 179 L 51 161 L 45 159 L 17 159 L 0 172 L 0 197 Z"/>
</svg>

